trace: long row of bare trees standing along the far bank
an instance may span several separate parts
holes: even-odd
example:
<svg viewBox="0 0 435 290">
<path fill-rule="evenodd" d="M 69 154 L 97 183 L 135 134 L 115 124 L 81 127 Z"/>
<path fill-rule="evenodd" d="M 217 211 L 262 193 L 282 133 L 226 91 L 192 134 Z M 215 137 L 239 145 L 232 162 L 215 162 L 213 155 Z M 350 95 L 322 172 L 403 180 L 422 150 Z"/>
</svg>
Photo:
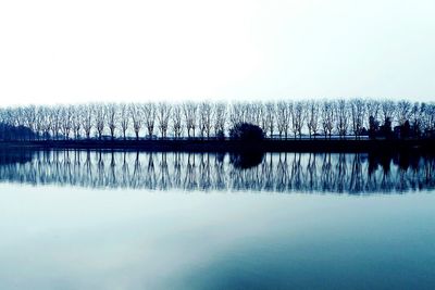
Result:
<svg viewBox="0 0 435 290">
<path fill-rule="evenodd" d="M 287 138 L 433 137 L 435 104 L 353 99 L 277 102 L 147 102 L 0 109 L 0 139 L 220 138 L 238 123 Z M 13 127 L 34 134 L 11 134 Z"/>
</svg>

